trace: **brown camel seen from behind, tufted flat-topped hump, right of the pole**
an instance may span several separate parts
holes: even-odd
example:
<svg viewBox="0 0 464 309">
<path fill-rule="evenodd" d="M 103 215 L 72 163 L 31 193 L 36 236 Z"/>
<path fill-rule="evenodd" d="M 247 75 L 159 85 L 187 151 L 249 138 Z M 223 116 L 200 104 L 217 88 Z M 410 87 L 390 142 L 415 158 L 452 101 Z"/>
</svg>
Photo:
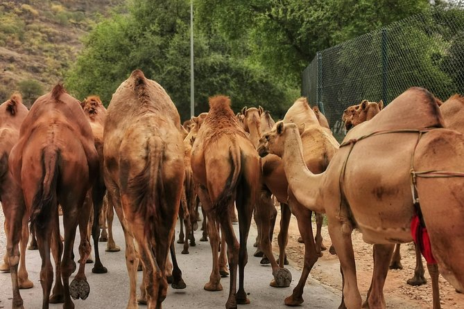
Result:
<svg viewBox="0 0 464 309">
<path fill-rule="evenodd" d="M 243 276 L 248 260 L 246 242 L 259 185 L 259 157 L 230 108 L 230 98 L 209 98 L 209 112 L 198 130 L 191 153 L 191 168 L 198 184 L 198 196 L 205 209 L 209 226 L 213 269 L 205 290 L 222 290 L 218 265 L 218 227 L 227 242 L 230 270 L 229 297 L 226 308 L 237 303 L 249 303 L 243 288 Z M 234 201 L 239 213 L 240 245 L 232 229 L 230 209 Z M 225 251 L 225 247 L 222 247 Z M 239 264 L 239 290 L 237 287 Z"/>
</svg>

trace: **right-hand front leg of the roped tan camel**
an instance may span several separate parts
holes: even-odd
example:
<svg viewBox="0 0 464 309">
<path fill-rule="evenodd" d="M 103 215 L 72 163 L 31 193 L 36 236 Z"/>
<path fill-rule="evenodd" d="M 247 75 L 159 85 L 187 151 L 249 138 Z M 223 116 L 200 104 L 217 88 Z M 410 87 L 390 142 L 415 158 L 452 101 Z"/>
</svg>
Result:
<svg viewBox="0 0 464 309">
<path fill-rule="evenodd" d="M 368 291 L 366 302 L 363 303 L 363 308 L 386 308 L 384 298 L 384 285 L 388 273 L 388 265 L 390 265 L 391 257 L 395 245 L 374 245 L 374 270 L 372 272 L 372 281 Z"/>
</svg>

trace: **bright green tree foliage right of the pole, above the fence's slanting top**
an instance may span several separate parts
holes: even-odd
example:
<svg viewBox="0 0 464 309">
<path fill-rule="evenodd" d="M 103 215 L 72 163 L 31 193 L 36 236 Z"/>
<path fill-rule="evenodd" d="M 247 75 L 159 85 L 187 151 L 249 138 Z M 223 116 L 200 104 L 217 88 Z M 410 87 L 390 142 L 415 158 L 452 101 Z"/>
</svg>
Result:
<svg viewBox="0 0 464 309">
<path fill-rule="evenodd" d="M 316 51 L 430 5 L 428 0 L 201 0 L 196 6 L 203 27 L 216 24 L 226 37 L 246 40 L 252 61 L 299 85 Z"/>
</svg>

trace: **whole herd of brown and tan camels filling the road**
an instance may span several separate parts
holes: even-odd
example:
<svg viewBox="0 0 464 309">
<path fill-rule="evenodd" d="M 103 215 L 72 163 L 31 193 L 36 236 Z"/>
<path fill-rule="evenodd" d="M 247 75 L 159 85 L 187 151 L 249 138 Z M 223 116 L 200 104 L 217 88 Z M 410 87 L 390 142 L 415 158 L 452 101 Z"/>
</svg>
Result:
<svg viewBox="0 0 464 309">
<path fill-rule="evenodd" d="M 270 263 L 270 285 L 289 287 L 291 273 L 284 265 L 291 214 L 305 249 L 300 280 L 286 305 L 304 301 L 309 272 L 326 249 L 320 233 L 325 214 L 330 252 L 341 264 L 339 308 L 386 308 L 388 267 L 401 267 L 399 244 L 414 240 L 418 263 L 408 283 L 424 283 L 423 254 L 433 309 L 438 309 L 438 274 L 464 290 L 463 119 L 463 97 L 442 103 L 425 89 L 411 88 L 386 107 L 364 100 L 347 108 L 348 132 L 338 144 L 324 114 L 305 98 L 275 123 L 262 107 L 234 114 L 230 98 L 213 96 L 208 113 L 182 124 L 166 91 L 139 70 L 114 92 L 108 110 L 97 96 L 80 102 L 62 85 L 37 98 L 30 111 L 15 94 L 0 105 L 0 201 L 7 235 L 0 270 L 10 272 L 12 308 L 24 308 L 19 289 L 33 286 L 24 258 L 29 231 L 42 258 L 42 308 L 49 303 L 74 308 L 71 298 L 86 299 L 86 263 L 94 260 L 94 273 L 108 272 L 98 238 L 108 240 L 107 251 L 119 251 L 112 239 L 113 210 L 126 241 L 127 308 L 139 303 L 162 308 L 168 283 L 186 288 L 174 251 L 176 221 L 181 221 L 182 254 L 188 254 L 201 209 L 200 240 L 209 240 L 212 249 L 204 288 L 223 290 L 221 276 L 230 275 L 227 309 L 250 303 L 244 276 L 253 218 L 255 256 Z M 272 249 L 275 201 L 282 211 L 278 261 Z M 237 220 L 238 239 L 232 227 Z M 77 268 L 77 227 L 79 267 L 69 282 Z M 364 303 L 356 282 L 353 229 L 374 245 Z M 137 270 L 143 271 L 138 298 Z"/>
</svg>

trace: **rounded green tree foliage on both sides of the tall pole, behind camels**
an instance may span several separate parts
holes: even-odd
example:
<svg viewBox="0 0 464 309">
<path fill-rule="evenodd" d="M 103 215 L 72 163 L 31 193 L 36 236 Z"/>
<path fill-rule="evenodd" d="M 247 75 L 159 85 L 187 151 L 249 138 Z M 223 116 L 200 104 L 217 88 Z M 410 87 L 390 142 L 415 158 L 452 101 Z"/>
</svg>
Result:
<svg viewBox="0 0 464 309">
<path fill-rule="evenodd" d="M 215 31 L 195 29 L 196 114 L 207 112 L 207 98 L 231 97 L 243 105 L 263 105 L 282 117 L 295 91 L 259 65 L 233 54 L 233 44 Z M 190 114 L 189 1 L 137 1 L 129 14 L 98 24 L 67 74 L 66 84 L 78 98 L 98 94 L 108 105 L 114 91 L 133 69 L 162 85 L 182 119 Z"/>
</svg>

